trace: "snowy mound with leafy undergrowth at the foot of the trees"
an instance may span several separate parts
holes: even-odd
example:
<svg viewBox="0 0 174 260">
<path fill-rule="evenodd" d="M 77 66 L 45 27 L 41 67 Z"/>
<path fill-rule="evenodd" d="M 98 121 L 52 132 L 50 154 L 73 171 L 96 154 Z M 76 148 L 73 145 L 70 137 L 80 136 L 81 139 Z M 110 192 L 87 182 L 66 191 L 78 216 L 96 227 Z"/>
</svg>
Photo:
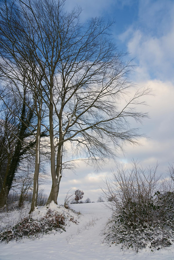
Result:
<svg viewBox="0 0 174 260">
<path fill-rule="evenodd" d="M 22 238 L 39 238 L 47 233 L 63 232 L 65 226 L 70 225 L 70 222 L 77 224 L 78 214 L 70 209 L 65 209 L 54 202 L 49 206 L 40 206 L 35 208 L 32 214 L 28 214 L 29 205 L 21 211 L 14 210 L 6 213 L 6 219 L 9 218 L 7 225 L 3 225 L 0 232 L 0 242 L 9 242 L 12 239 L 20 240 Z M 18 215 L 18 219 L 13 217 Z M 11 222 L 10 222 L 11 219 Z M 13 223 L 13 224 L 12 224 Z"/>
</svg>

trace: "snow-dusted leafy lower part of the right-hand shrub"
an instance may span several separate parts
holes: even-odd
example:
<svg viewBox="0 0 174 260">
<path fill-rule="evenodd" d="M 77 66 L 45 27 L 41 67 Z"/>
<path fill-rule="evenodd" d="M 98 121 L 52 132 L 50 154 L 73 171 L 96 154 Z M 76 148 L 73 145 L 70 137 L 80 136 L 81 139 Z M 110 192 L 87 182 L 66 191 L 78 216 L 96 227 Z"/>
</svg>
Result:
<svg viewBox="0 0 174 260">
<path fill-rule="evenodd" d="M 113 214 L 107 223 L 105 239 L 109 245 L 120 244 L 121 249 L 132 248 L 138 252 L 139 249 L 148 246 L 153 251 L 170 246 L 174 241 L 174 230 L 161 223 L 156 223 L 153 227 L 149 223 L 128 222 L 122 216 Z"/>
</svg>

